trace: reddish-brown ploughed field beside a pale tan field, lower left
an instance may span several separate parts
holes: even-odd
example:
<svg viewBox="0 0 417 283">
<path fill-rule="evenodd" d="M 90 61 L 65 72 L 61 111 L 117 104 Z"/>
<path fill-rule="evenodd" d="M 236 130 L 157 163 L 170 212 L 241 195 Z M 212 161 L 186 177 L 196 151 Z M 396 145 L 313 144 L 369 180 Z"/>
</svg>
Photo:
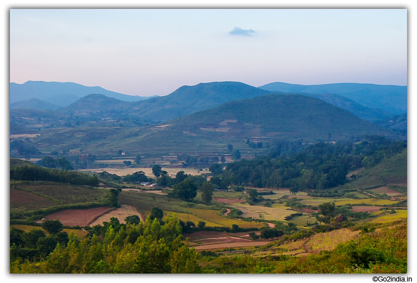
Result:
<svg viewBox="0 0 417 283">
<path fill-rule="evenodd" d="M 66 226 L 86 226 L 99 216 L 110 211 L 110 208 L 100 207 L 87 210 L 65 210 L 45 216 L 46 219 L 57 220 Z"/>
</svg>

